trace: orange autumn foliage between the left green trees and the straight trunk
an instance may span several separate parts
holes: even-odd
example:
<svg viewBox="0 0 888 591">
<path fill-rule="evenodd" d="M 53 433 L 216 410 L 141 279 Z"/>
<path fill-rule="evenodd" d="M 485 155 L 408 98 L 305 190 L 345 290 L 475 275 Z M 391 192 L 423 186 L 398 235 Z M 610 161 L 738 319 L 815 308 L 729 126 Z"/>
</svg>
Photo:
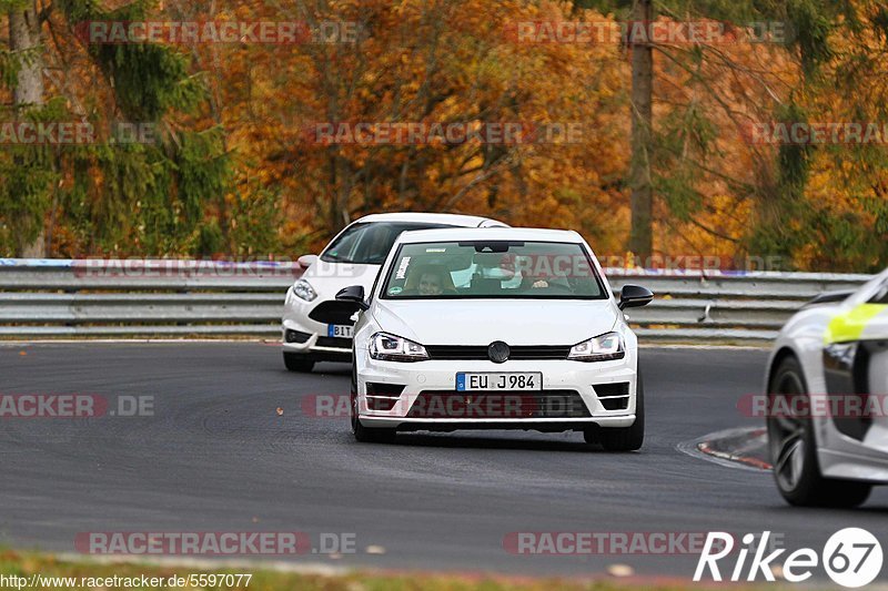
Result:
<svg viewBox="0 0 888 591">
<path fill-rule="evenodd" d="M 518 22 L 564 19 L 509 0 L 230 2 L 242 19 L 356 23 L 355 42 L 224 47 L 224 125 L 239 196 L 280 192 L 287 247 L 315 247 L 363 213 L 463 211 L 578 227 L 618 249 L 628 130 L 617 45 L 518 42 Z M 601 19 L 599 14 L 588 18 Z M 204 54 L 205 62 L 212 57 Z M 236 80 L 236 84 L 232 81 Z M 324 122 L 582 124 L 576 142 L 313 141 Z M 603 216 L 602 212 L 615 212 Z"/>
</svg>

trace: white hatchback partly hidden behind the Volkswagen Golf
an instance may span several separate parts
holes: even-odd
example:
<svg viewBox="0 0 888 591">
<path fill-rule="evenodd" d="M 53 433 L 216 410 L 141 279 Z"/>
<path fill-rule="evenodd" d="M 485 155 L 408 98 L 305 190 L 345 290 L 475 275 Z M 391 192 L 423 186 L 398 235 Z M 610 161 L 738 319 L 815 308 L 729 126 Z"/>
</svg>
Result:
<svg viewBox="0 0 888 591">
<path fill-rule="evenodd" d="M 336 302 L 346 285 L 370 289 L 398 234 L 435 227 L 495 227 L 496 220 L 440 213 L 367 215 L 345 227 L 321 256 L 300 257 L 307 267 L 286 292 L 282 320 L 284 365 L 311 371 L 315 361 L 350 361 L 354 304 Z"/>
</svg>

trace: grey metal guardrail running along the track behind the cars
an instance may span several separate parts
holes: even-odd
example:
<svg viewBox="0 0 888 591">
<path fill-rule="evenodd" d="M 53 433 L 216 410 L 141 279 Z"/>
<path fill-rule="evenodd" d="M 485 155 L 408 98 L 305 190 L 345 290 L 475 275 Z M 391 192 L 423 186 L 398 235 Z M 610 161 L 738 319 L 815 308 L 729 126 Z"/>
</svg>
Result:
<svg viewBox="0 0 888 591">
<path fill-rule="evenodd" d="M 0 258 L 0 338 L 280 338 L 296 263 Z M 805 302 L 869 275 L 606 269 L 656 297 L 628 310 L 643 340 L 763 342 Z"/>
</svg>

